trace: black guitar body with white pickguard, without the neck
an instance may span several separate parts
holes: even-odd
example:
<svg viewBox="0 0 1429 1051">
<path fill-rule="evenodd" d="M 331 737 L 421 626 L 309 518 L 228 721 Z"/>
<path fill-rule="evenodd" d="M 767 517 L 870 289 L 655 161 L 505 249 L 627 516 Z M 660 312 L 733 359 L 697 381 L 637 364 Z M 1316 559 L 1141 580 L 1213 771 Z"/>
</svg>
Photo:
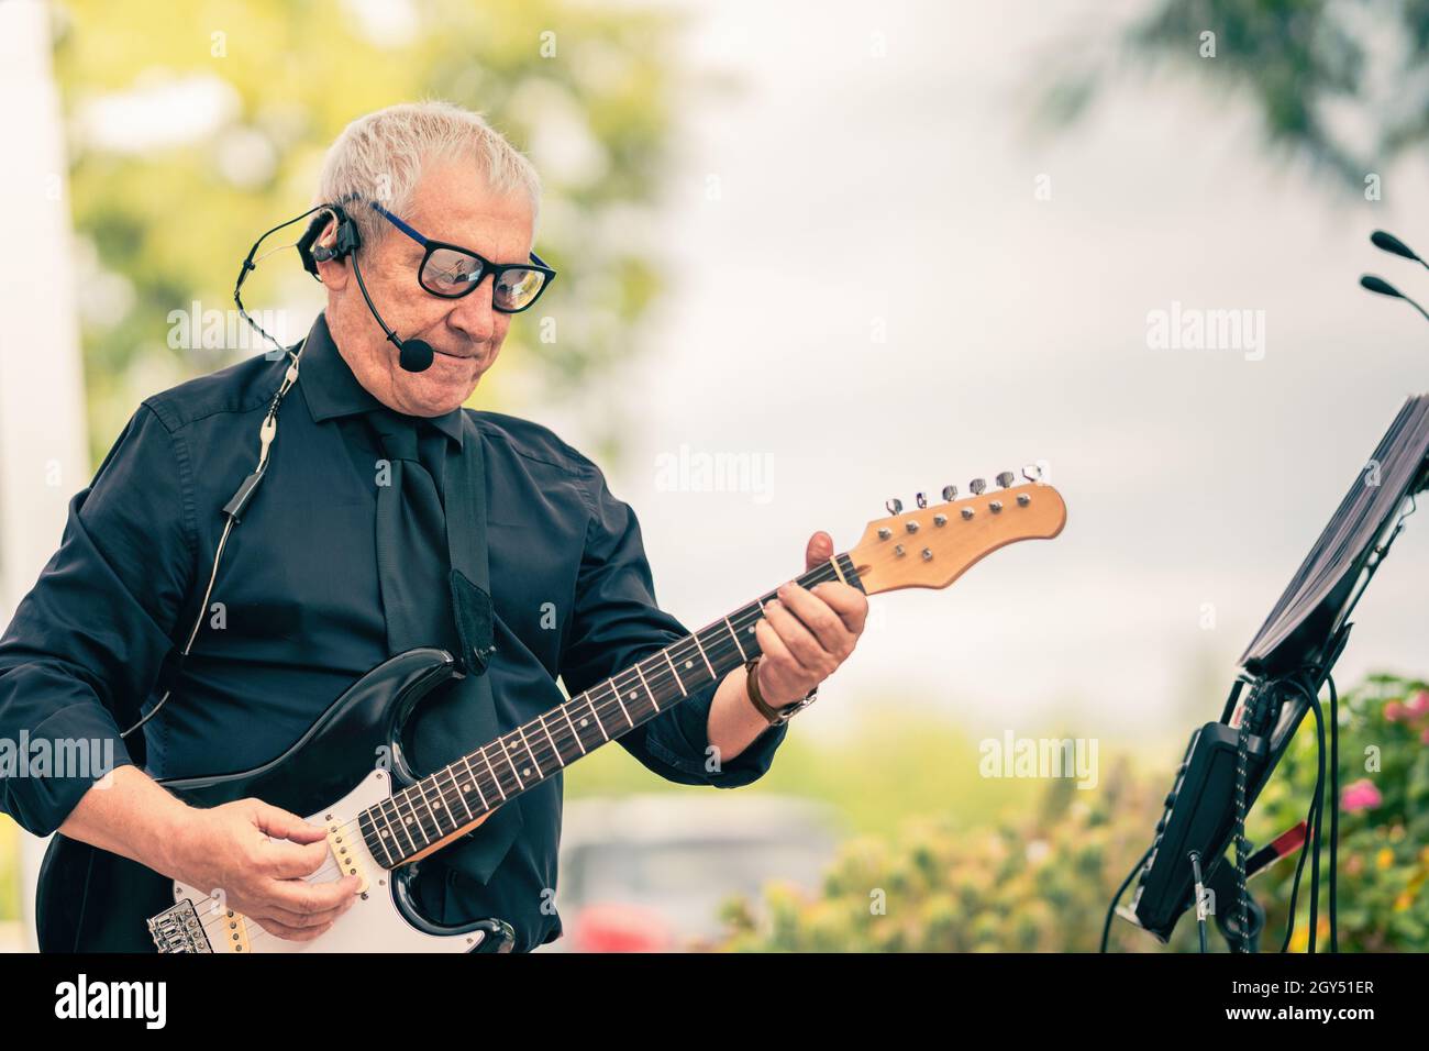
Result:
<svg viewBox="0 0 1429 1051">
<path fill-rule="evenodd" d="M 324 828 L 350 828 L 357 815 L 419 781 L 406 762 L 402 729 L 413 708 L 457 675 L 450 653 L 412 649 L 350 686 L 280 756 L 254 769 L 160 781 L 193 806 L 257 798 Z M 373 769 L 380 748 L 392 769 Z M 334 838 L 329 839 L 333 845 Z M 289 941 L 227 911 L 221 898 L 176 884 L 129 858 L 56 834 L 44 855 L 36 929 L 44 952 L 469 952 L 509 951 L 500 919 L 443 927 L 423 917 L 410 894 L 414 865 L 383 868 L 360 835 L 343 835 L 333 857 L 352 851 L 364 878 L 359 901 L 312 941 Z M 344 858 L 344 865 L 349 861 Z M 336 878 L 329 865 L 314 879 Z"/>
</svg>

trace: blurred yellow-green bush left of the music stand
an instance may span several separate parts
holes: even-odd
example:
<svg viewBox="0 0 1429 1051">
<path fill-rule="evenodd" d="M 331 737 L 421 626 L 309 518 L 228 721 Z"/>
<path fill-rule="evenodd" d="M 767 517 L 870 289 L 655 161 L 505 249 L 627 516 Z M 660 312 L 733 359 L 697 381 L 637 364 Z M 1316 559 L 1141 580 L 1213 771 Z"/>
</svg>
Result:
<svg viewBox="0 0 1429 1051">
<path fill-rule="evenodd" d="M 766 888 L 726 902 L 730 951 L 1047 952 L 1095 949 L 1106 905 L 1146 849 L 1159 804 L 1126 758 L 1097 791 L 1055 779 L 1022 816 L 959 827 L 910 819 L 845 844 L 822 892 Z M 1183 932 L 1182 932 L 1183 934 Z M 1126 948 L 1150 949 L 1149 938 Z"/>
</svg>

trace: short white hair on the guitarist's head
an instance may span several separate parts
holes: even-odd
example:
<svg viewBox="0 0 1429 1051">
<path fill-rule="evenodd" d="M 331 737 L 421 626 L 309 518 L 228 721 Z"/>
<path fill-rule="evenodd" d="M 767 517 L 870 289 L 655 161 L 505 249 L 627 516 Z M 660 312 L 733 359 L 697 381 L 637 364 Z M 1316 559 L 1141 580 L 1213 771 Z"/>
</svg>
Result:
<svg viewBox="0 0 1429 1051">
<path fill-rule="evenodd" d="M 362 243 L 377 245 L 392 224 L 367 202 L 402 216 L 433 160 L 470 160 L 493 193 L 526 193 L 533 214 L 540 212 L 540 176 L 530 160 L 480 113 L 449 102 L 400 103 L 357 117 L 327 149 L 313 203 L 360 202 L 347 213 Z"/>
</svg>

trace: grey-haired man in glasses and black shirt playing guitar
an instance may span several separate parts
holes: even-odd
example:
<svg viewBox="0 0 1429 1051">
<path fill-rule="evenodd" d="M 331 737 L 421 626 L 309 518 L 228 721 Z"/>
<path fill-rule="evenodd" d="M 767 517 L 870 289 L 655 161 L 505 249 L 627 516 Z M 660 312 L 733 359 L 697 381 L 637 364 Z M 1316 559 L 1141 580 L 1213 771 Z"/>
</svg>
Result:
<svg viewBox="0 0 1429 1051">
<path fill-rule="evenodd" d="M 286 369 L 272 356 L 140 406 L 0 639 L 0 735 L 111 742 L 117 766 L 101 785 L 3 779 L 4 811 L 30 832 L 59 829 L 221 888 L 230 908 L 299 941 L 354 901 L 354 877 L 304 879 L 327 859 L 324 831 L 256 799 L 189 806 L 156 779 L 266 762 L 392 653 L 456 645 L 444 513 L 459 482 L 446 465 L 470 443 L 484 463 L 490 725 L 504 732 L 559 705 L 557 678 L 574 696 L 689 633 L 656 606 L 636 516 L 590 459 L 543 426 L 462 408 L 512 316 L 553 276 L 532 256 L 530 163 L 473 113 L 393 106 L 337 139 L 317 199 L 346 203 L 360 246 L 344 252 L 339 213 L 319 213 L 309 243 L 327 307 L 191 652 L 173 663 L 210 583 L 219 509 L 253 468 Z M 383 470 L 399 459 L 400 486 Z M 806 565 L 832 555 L 829 535 L 815 533 Z M 680 784 L 757 779 L 787 729 L 770 712 L 849 656 L 866 612 L 846 583 L 790 582 L 757 622 L 756 682 L 740 666 L 620 744 Z M 156 711 L 160 685 L 169 699 Z M 472 696 L 452 689 L 419 709 L 416 769 L 484 744 L 466 739 L 483 725 Z M 121 736 L 141 719 L 140 735 Z M 560 809 L 557 775 L 434 854 L 417 881 L 422 909 L 449 925 L 499 917 L 522 951 L 557 938 Z"/>
</svg>

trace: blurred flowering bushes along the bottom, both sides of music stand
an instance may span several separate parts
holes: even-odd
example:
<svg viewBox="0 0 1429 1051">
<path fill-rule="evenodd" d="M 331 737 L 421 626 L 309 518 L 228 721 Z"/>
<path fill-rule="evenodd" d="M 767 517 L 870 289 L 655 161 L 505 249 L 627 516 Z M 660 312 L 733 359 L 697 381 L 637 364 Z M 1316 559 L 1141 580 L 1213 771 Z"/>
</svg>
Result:
<svg viewBox="0 0 1429 1051">
<path fill-rule="evenodd" d="M 1326 705 L 1328 709 L 1328 705 Z M 1420 681 L 1373 676 L 1340 705 L 1342 812 L 1339 945 L 1342 951 L 1422 951 L 1429 902 L 1429 689 Z M 1303 819 L 1315 789 L 1313 721 L 1296 736 L 1252 812 L 1248 835 L 1263 844 Z M 1378 752 L 1368 749 L 1375 748 Z M 1375 755 L 1382 768 L 1370 769 Z M 1020 816 L 959 822 L 946 808 L 906 818 L 896 835 L 846 842 L 817 895 L 773 884 L 763 909 L 726 902 L 729 951 L 1095 951 L 1107 902 L 1149 844 L 1169 772 L 1137 774 L 1123 756 L 1097 791 L 1050 781 Z M 1375 799 L 1373 805 L 1362 805 Z M 1326 811 L 1326 838 L 1329 814 Z M 1322 897 L 1328 902 L 1328 845 Z M 1266 907 L 1262 951 L 1283 938 L 1295 865 L 1286 859 L 1250 884 Z M 1292 948 L 1308 941 L 1309 861 Z M 1320 948 L 1328 948 L 1328 904 Z M 1125 904 L 1125 901 L 1123 901 Z M 1222 905 L 1225 908 L 1225 905 Z M 1117 921 L 1113 945 L 1159 951 Z M 1213 948 L 1225 942 L 1212 931 Z M 1195 951 L 1183 918 L 1173 951 Z"/>
</svg>

